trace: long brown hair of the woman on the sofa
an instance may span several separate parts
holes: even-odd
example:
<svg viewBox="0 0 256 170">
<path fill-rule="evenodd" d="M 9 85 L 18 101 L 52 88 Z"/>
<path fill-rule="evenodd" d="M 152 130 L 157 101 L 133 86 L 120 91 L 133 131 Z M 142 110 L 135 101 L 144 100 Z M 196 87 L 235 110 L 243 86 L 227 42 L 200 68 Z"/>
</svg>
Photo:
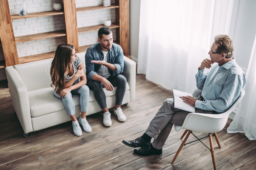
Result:
<svg viewBox="0 0 256 170">
<path fill-rule="evenodd" d="M 54 59 L 52 60 L 52 66 L 51 66 L 51 78 L 52 78 L 52 84 L 54 90 L 57 94 L 60 93 L 60 91 L 65 86 L 65 77 L 64 74 L 67 70 L 70 70 L 71 67 L 71 53 L 75 49 L 74 46 L 70 44 L 60 44 L 55 52 Z"/>
</svg>

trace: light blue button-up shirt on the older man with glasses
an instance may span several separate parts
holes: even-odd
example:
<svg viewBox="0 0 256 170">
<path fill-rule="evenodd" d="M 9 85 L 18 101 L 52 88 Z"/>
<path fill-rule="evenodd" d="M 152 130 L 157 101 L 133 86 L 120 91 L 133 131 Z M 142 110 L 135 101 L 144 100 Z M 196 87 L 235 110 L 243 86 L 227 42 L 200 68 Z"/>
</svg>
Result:
<svg viewBox="0 0 256 170">
<path fill-rule="evenodd" d="M 223 113 L 242 95 L 246 83 L 244 72 L 234 58 L 222 66 L 213 66 L 209 73 L 206 70 L 198 68 L 196 74 L 196 86 L 203 90 L 204 101 L 197 100 L 195 108 Z"/>
</svg>

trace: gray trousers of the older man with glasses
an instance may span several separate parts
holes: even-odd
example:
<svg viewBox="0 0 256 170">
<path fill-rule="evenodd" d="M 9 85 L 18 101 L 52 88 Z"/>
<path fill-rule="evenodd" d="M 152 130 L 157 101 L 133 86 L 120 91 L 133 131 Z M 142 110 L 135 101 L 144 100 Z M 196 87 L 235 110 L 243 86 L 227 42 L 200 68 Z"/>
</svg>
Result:
<svg viewBox="0 0 256 170">
<path fill-rule="evenodd" d="M 195 108 L 196 113 L 216 114 L 214 111 L 201 110 Z M 187 115 L 191 113 L 188 111 L 174 108 L 173 98 L 166 99 L 157 111 L 155 117 L 148 125 L 148 129 L 145 131 L 147 135 L 154 138 L 152 143 L 156 149 L 162 149 L 166 139 L 168 138 L 172 125 L 176 124 L 182 126 Z"/>
</svg>

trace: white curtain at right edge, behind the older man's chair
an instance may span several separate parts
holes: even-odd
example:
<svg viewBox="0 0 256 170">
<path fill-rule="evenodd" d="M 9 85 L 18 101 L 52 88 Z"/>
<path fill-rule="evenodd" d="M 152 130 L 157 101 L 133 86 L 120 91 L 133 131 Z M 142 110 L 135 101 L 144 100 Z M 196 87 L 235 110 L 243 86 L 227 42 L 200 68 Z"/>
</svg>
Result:
<svg viewBox="0 0 256 170">
<path fill-rule="evenodd" d="M 249 66 L 246 71 L 244 97 L 239 103 L 228 133 L 244 133 L 249 140 L 256 140 L 256 36 L 252 47 Z"/>
</svg>

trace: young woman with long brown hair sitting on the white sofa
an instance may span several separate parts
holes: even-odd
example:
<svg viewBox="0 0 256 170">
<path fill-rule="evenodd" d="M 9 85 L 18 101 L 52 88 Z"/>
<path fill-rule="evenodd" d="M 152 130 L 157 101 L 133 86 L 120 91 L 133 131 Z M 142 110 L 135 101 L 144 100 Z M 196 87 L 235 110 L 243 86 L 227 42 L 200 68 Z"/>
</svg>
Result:
<svg viewBox="0 0 256 170">
<path fill-rule="evenodd" d="M 79 78 L 80 77 L 80 81 Z M 54 88 L 54 96 L 61 98 L 72 119 L 73 131 L 76 136 L 82 135 L 80 124 L 84 131 L 91 132 L 92 127 L 86 120 L 86 111 L 89 102 L 89 88 L 86 86 L 84 66 L 76 56 L 75 47 L 69 44 L 61 44 L 57 47 L 51 66 L 51 86 Z M 72 94 L 80 95 L 81 116 L 76 119 L 75 104 Z"/>
</svg>

